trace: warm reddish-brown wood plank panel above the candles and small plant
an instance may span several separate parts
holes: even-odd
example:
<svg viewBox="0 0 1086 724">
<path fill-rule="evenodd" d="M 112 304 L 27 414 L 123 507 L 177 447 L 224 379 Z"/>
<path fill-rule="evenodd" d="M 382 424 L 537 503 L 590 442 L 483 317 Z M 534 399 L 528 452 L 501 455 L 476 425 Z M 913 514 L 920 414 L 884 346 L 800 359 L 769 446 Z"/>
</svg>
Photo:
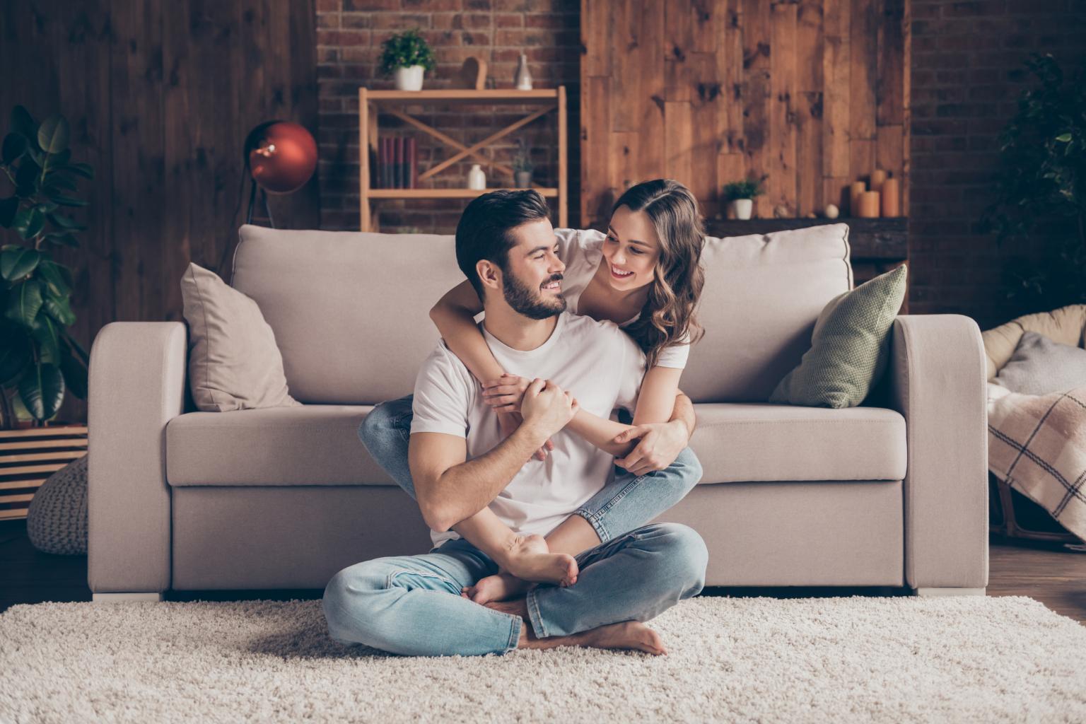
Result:
<svg viewBox="0 0 1086 724">
<path fill-rule="evenodd" d="M 583 226 L 660 176 L 707 216 L 725 183 L 763 174 L 763 218 L 847 213 L 848 186 L 876 165 L 908 199 L 907 0 L 582 0 L 581 18 L 582 106 L 595 110 L 582 116 Z"/>
</svg>

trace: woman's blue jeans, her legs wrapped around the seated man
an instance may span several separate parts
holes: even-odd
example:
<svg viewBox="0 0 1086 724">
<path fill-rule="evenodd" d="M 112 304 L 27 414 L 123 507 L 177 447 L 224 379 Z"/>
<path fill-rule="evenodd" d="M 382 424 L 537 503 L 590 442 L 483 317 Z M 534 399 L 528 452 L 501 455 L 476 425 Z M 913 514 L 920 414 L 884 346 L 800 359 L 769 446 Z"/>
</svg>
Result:
<svg viewBox="0 0 1086 724">
<path fill-rule="evenodd" d="M 413 395 L 407 395 L 375 407 L 358 427 L 358 437 L 377 463 L 415 498 L 407 467 L 412 399 Z M 664 470 L 644 475 L 616 466 L 614 480 L 574 512 L 589 521 L 602 543 L 607 543 L 671 508 L 699 480 L 702 463 L 689 447 Z"/>
</svg>

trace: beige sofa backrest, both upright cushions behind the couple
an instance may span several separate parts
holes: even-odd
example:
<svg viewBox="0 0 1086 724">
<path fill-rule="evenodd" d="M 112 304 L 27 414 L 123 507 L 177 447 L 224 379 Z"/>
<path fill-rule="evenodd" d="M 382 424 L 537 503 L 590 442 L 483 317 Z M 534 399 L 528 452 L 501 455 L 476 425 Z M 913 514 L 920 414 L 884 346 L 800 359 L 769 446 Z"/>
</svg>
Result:
<svg viewBox="0 0 1086 724">
<path fill-rule="evenodd" d="M 272 326 L 291 396 L 371 405 L 412 391 L 439 340 L 429 309 L 464 281 L 451 234 L 245 225 L 240 237 L 231 283 Z M 694 402 L 766 401 L 853 283 L 845 224 L 710 237 L 703 264 L 706 334 L 681 383 Z"/>
</svg>

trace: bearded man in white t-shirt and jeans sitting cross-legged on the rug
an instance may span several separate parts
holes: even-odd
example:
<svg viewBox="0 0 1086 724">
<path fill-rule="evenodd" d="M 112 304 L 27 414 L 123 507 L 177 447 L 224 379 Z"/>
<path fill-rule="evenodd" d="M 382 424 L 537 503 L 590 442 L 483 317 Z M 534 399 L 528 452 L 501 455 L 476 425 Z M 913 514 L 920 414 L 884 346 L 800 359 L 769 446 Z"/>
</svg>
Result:
<svg viewBox="0 0 1086 724">
<path fill-rule="evenodd" d="M 632 410 L 644 374 L 644 355 L 616 325 L 564 312 L 555 246 L 534 191 L 495 191 L 465 209 L 457 263 L 480 292 L 497 361 L 533 379 L 523 422 L 503 440 L 470 372 L 438 345 L 416 380 L 409 449 L 434 550 L 337 573 L 323 602 L 333 639 L 414 656 L 568 645 L 666 653 L 642 622 L 702 590 L 705 543 L 685 525 L 660 523 L 580 554 L 573 585 L 487 606 L 460 595 L 497 567 L 450 529 L 484 507 L 526 535 L 568 518 L 601 490 L 613 457 L 567 423 L 578 408 L 603 418 L 616 407 Z M 526 466 L 548 439 L 555 447 L 545 463 Z"/>
</svg>

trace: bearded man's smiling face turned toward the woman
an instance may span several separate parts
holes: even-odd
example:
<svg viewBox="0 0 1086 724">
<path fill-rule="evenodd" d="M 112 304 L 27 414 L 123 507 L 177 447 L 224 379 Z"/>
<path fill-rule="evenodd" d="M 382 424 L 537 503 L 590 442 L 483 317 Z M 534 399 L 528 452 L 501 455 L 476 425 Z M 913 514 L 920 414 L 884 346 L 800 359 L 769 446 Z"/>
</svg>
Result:
<svg viewBox="0 0 1086 724">
<path fill-rule="evenodd" d="M 509 250 L 502 274 L 502 292 L 514 312 L 529 319 L 546 319 L 566 309 L 558 244 L 550 219 L 536 219 L 513 229 L 517 243 Z"/>
</svg>

